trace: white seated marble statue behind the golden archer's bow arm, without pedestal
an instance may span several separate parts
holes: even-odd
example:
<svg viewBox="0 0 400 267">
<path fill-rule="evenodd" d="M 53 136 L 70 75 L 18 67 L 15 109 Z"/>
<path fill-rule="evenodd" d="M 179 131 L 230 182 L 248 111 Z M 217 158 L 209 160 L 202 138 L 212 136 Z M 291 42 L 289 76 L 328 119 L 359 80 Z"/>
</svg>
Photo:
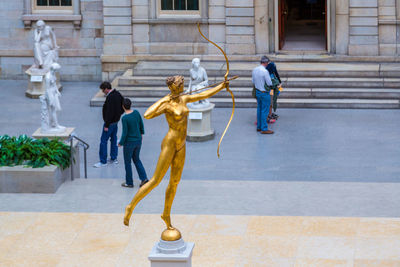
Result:
<svg viewBox="0 0 400 267">
<path fill-rule="evenodd" d="M 191 94 L 193 91 L 199 90 L 200 88 L 206 86 L 208 86 L 207 72 L 203 67 L 200 66 L 200 59 L 194 58 L 192 60 L 192 68 L 190 69 L 190 81 L 187 92 Z M 196 91 L 196 93 L 200 93 L 204 90 Z M 204 108 L 208 107 L 209 105 L 210 101 L 208 101 L 208 99 L 204 99 L 198 102 L 190 103 L 187 106 L 190 108 Z"/>
</svg>

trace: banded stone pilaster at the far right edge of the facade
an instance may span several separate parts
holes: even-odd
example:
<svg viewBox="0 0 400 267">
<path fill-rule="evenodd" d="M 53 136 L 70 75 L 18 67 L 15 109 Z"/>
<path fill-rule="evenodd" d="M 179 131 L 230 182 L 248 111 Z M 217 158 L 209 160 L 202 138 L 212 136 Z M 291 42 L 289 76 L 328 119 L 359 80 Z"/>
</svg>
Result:
<svg viewBox="0 0 400 267">
<path fill-rule="evenodd" d="M 396 47 L 396 2 L 379 1 L 379 55 L 394 56 Z"/>
</svg>

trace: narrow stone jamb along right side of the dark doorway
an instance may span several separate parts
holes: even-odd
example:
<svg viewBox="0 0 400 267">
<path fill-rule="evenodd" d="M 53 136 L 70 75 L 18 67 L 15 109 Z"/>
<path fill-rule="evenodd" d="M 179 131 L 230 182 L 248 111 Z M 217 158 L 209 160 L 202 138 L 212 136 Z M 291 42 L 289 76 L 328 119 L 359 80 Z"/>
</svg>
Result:
<svg viewBox="0 0 400 267">
<path fill-rule="evenodd" d="M 349 52 L 349 0 L 336 0 L 336 53 Z"/>
</svg>

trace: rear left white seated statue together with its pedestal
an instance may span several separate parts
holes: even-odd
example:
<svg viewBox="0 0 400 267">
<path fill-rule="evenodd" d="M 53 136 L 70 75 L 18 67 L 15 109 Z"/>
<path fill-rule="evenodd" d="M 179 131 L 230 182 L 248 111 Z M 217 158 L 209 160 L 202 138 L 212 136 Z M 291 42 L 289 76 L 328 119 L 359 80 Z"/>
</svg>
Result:
<svg viewBox="0 0 400 267">
<path fill-rule="evenodd" d="M 28 90 L 26 96 L 38 98 L 46 90 L 45 76 L 49 72 L 50 66 L 58 61 L 58 49 L 56 35 L 50 26 L 43 20 L 36 22 L 34 29 L 34 64 L 25 72 L 29 76 Z M 57 73 L 56 84 L 61 90 L 60 77 Z"/>
</svg>

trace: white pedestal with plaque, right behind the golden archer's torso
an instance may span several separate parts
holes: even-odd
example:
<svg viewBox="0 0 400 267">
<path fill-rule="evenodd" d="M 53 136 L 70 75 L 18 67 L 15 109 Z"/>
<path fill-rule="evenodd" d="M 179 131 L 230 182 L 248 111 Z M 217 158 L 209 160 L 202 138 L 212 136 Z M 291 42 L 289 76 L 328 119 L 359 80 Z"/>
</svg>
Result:
<svg viewBox="0 0 400 267">
<path fill-rule="evenodd" d="M 210 103 L 207 107 L 189 107 L 187 141 L 201 142 L 211 140 L 215 136 L 214 129 L 211 128 L 211 112 L 214 104 Z"/>
</svg>

